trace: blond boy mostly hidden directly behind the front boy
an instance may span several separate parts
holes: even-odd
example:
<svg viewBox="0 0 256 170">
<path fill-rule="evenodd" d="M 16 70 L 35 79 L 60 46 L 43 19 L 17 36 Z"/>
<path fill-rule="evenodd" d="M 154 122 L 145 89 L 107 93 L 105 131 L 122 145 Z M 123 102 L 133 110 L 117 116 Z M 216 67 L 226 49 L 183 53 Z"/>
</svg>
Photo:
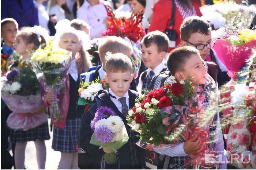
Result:
<svg viewBox="0 0 256 170">
<path fill-rule="evenodd" d="M 105 80 L 104 75 L 106 74 L 106 59 L 105 55 L 107 52 L 110 53 L 123 53 L 128 57 L 132 54 L 132 47 L 124 39 L 117 36 L 108 36 L 102 40 L 99 45 L 99 58 L 101 59 L 102 65 L 94 66 L 89 68 L 88 72 L 80 75 L 82 80 L 85 82 L 92 82 L 98 77 L 100 80 Z M 133 79 L 131 82 L 130 89 L 137 91 L 136 82 Z"/>
</svg>

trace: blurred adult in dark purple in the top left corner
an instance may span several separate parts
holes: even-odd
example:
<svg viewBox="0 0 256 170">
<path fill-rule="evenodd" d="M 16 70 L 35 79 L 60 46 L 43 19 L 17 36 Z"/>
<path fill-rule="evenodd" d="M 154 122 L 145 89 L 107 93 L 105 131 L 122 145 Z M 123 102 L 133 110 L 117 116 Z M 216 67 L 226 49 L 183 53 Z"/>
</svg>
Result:
<svg viewBox="0 0 256 170">
<path fill-rule="evenodd" d="M 1 20 L 5 18 L 15 19 L 19 24 L 19 29 L 39 25 L 33 0 L 2 0 Z"/>
</svg>

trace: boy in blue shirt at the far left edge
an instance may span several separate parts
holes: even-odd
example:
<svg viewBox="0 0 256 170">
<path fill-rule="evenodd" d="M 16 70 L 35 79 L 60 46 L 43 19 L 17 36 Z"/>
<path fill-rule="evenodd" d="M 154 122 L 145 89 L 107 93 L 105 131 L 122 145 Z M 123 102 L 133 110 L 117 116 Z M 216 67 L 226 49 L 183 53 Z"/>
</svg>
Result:
<svg viewBox="0 0 256 170">
<path fill-rule="evenodd" d="M 1 46 L 1 54 L 5 55 L 5 57 L 1 56 L 1 75 L 4 75 L 7 72 L 6 64 L 7 59 L 14 52 L 13 44 L 15 43 L 15 37 L 18 32 L 18 23 L 15 19 L 5 18 L 1 20 L 1 38 L 3 38 L 3 44 Z M 5 105 L 4 101 L 1 100 L 1 168 L 2 169 L 11 169 L 14 165 L 13 158 L 8 152 L 8 136 L 10 134 L 10 130 L 6 127 L 6 121 L 11 113 L 10 109 Z M 14 148 L 13 144 L 13 148 Z M 14 155 L 14 149 L 12 150 Z"/>
</svg>

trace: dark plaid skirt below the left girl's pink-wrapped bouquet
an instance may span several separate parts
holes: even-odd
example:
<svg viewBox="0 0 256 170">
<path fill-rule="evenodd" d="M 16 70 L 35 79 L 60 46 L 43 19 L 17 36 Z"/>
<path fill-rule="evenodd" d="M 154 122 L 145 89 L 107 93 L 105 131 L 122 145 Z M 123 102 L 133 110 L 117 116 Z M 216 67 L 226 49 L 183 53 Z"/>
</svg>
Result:
<svg viewBox="0 0 256 170">
<path fill-rule="evenodd" d="M 39 125 L 38 127 L 32 128 L 27 131 L 22 130 L 10 130 L 10 140 L 13 143 L 16 142 L 28 142 L 35 140 L 49 140 L 49 127 L 48 121 L 44 124 Z"/>
</svg>

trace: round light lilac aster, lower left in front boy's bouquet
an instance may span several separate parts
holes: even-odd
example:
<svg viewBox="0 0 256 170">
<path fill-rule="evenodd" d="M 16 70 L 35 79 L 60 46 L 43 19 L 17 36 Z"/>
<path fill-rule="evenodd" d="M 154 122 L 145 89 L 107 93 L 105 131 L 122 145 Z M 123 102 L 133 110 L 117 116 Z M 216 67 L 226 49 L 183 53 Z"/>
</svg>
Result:
<svg viewBox="0 0 256 170">
<path fill-rule="evenodd" d="M 103 143 L 109 143 L 114 136 L 114 134 L 104 125 L 99 125 L 99 128 L 95 129 L 94 133 L 96 138 Z"/>
</svg>

